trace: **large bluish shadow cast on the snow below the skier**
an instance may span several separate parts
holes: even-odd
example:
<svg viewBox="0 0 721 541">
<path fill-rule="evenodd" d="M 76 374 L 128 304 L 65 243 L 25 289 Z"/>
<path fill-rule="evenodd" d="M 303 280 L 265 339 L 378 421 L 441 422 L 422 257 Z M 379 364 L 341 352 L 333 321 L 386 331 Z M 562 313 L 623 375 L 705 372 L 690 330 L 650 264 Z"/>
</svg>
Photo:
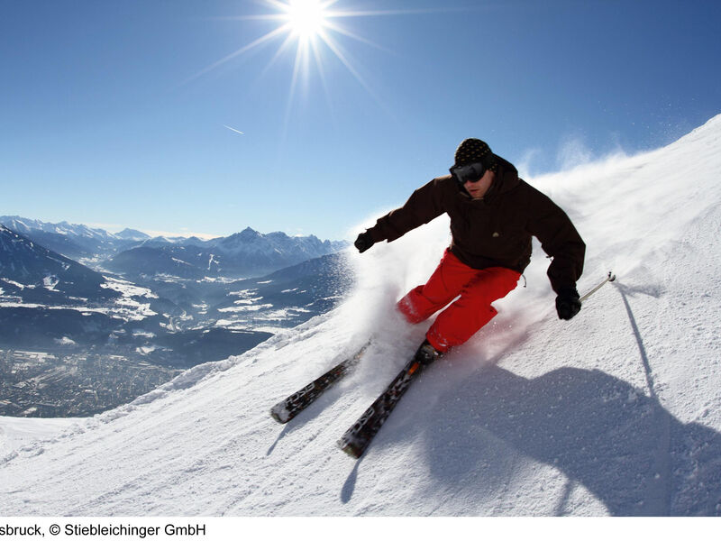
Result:
<svg viewBox="0 0 721 541">
<path fill-rule="evenodd" d="M 529 380 L 493 366 L 438 403 L 424 462 L 454 491 L 497 498 L 517 475 L 510 451 L 565 474 L 559 515 L 576 483 L 615 516 L 721 515 L 721 434 L 681 423 L 603 371 L 561 368 Z"/>
</svg>

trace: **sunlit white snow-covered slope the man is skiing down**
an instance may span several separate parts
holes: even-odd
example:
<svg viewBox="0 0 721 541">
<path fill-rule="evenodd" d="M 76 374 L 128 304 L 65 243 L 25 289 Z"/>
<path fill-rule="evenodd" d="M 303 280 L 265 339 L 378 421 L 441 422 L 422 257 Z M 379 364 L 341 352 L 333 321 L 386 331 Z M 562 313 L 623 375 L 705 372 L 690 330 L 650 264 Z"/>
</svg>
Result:
<svg viewBox="0 0 721 541">
<path fill-rule="evenodd" d="M 332 313 L 50 439 L 5 443 L 0 509 L 721 515 L 719 142 L 721 116 L 658 151 L 530 179 L 587 241 L 580 291 L 618 279 L 561 322 L 536 249 L 528 287 L 422 374 L 360 461 L 335 441 L 422 340 L 391 308 L 433 271 L 443 218 L 354 255 L 360 283 Z M 269 417 L 372 333 L 350 378 L 287 426 Z"/>
</svg>

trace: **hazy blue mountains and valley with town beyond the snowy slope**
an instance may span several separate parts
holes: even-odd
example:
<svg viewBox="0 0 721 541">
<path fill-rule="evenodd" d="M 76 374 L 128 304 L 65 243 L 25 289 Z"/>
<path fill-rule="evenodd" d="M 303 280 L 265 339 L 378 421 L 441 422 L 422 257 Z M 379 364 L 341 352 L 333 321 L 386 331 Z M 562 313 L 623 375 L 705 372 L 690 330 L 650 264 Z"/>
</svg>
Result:
<svg viewBox="0 0 721 541">
<path fill-rule="evenodd" d="M 112 408 L 324 313 L 352 282 L 345 256 L 325 253 L 344 243 L 313 236 L 248 228 L 202 241 L 3 221 L 23 233 L 0 225 L 0 415 Z"/>
</svg>

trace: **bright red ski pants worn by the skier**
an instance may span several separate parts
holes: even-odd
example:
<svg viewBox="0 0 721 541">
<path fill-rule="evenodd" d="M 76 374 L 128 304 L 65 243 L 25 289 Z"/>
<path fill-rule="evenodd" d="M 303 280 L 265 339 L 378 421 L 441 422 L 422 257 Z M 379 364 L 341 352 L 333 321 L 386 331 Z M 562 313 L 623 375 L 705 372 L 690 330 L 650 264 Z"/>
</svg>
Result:
<svg viewBox="0 0 721 541">
<path fill-rule="evenodd" d="M 504 298 L 516 288 L 520 272 L 504 267 L 471 269 L 450 250 L 424 286 L 411 289 L 397 307 L 410 323 L 420 323 L 448 305 L 436 317 L 425 337 L 439 352 L 461 345 L 486 325 L 496 308 L 493 301 Z M 459 297 L 460 295 L 460 297 Z"/>
</svg>

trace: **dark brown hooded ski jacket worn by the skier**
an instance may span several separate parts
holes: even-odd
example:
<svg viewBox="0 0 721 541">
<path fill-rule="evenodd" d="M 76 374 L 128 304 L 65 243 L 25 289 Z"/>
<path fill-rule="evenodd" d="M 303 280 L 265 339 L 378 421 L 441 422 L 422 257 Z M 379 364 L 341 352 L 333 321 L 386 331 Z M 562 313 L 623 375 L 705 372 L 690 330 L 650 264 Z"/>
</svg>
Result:
<svg viewBox="0 0 721 541">
<path fill-rule="evenodd" d="M 523 272 L 531 261 L 531 237 L 552 257 L 548 277 L 556 293 L 575 288 L 583 271 L 586 245 L 561 207 L 518 178 L 507 160 L 497 157 L 496 179 L 482 199 L 471 199 L 451 175 L 415 190 L 404 206 L 368 231 L 374 242 L 395 241 L 419 225 L 451 216 L 451 252 L 473 269 L 506 267 Z"/>
</svg>

